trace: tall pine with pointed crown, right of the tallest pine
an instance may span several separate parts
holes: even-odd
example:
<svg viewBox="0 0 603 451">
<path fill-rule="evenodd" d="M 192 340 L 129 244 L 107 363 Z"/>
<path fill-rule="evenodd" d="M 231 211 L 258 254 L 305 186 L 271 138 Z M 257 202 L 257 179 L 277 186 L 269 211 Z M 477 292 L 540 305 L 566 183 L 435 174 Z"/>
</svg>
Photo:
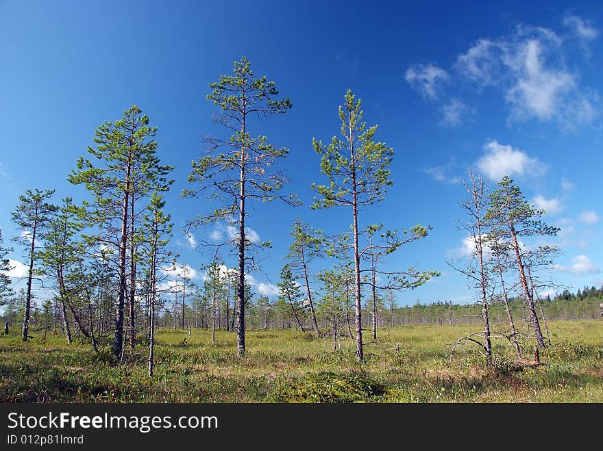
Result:
<svg viewBox="0 0 603 451">
<path fill-rule="evenodd" d="M 339 107 L 339 118 L 343 138 L 334 136 L 329 145 L 312 139 L 315 151 L 322 155 L 321 172 L 328 177 L 328 185 L 312 183 L 312 190 L 319 194 L 319 198 L 315 198 L 311 207 L 312 209 L 347 207 L 352 213 L 351 237 L 348 232 L 344 233 L 339 240 L 339 247 L 343 250 L 352 250 L 356 309 L 356 357 L 362 361 L 361 285 L 364 282 L 361 280 L 360 261 L 363 254 L 378 248 L 384 253 L 392 253 L 402 244 L 427 236 L 429 228 L 417 224 L 406 237 L 400 237 L 395 231 L 386 231 L 381 235 L 381 244 L 369 244 L 369 246 L 361 247 L 362 235 L 370 235 L 371 229 L 379 226 L 373 224 L 367 229 L 360 229 L 358 225 L 360 211 L 382 201 L 387 188 L 393 184 L 393 181 L 389 179 L 391 174 L 389 164 L 393 159 L 393 149 L 382 142 L 375 141 L 378 126 L 367 127 L 367 123 L 362 122 L 360 100 L 356 100 L 356 96 L 352 94 L 351 90 L 347 91 L 345 101 Z M 404 235 L 407 235 L 406 231 L 404 231 Z M 432 275 L 435 274 L 433 272 Z M 399 272 L 395 279 L 404 286 L 408 283 L 409 277 L 420 281 L 428 279 L 430 272 L 418 273 L 411 267 L 408 272 Z"/>
</svg>

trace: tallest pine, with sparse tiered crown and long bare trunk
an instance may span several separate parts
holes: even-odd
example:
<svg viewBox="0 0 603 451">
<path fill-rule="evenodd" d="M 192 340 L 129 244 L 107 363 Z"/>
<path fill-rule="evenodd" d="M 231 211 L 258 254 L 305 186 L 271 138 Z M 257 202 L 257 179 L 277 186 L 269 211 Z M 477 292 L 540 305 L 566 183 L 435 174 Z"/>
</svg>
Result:
<svg viewBox="0 0 603 451">
<path fill-rule="evenodd" d="M 288 149 L 274 146 L 267 136 L 251 136 L 254 118 L 284 114 L 291 108 L 289 99 L 275 99 L 278 90 L 274 81 L 264 75 L 254 78 L 247 58 L 234 62 L 232 75 L 221 75 L 219 81 L 210 83 L 208 100 L 221 109 L 215 122 L 232 134 L 226 139 L 205 138 L 208 152 L 193 162 L 188 176 L 190 183 L 200 188 L 184 190 L 182 196 L 196 198 L 208 193 L 223 205 L 210 214 L 200 214 L 188 223 L 188 231 L 201 224 L 228 222 L 234 227 L 234 237 L 222 245 L 232 245 L 238 255 L 238 280 L 236 287 L 236 347 L 238 355 L 245 354 L 245 274 L 252 270 L 252 242 L 247 236 L 249 202 L 269 202 L 278 199 L 288 205 L 297 205 L 295 194 L 282 195 L 286 183 L 283 175 L 272 170 L 279 159 L 286 157 Z M 219 244 L 220 245 L 220 244 Z M 262 243 L 269 245 L 269 243 Z"/>
</svg>

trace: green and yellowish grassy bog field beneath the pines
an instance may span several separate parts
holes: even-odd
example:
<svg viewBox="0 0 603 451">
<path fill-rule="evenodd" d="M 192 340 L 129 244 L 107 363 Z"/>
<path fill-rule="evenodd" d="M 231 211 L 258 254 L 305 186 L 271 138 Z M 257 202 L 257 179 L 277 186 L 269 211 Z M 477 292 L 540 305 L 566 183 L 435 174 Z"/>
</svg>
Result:
<svg viewBox="0 0 603 451">
<path fill-rule="evenodd" d="M 0 401 L 603 402 L 603 321 L 549 327 L 543 365 L 517 368 L 508 344 L 497 343 L 496 370 L 474 345 L 451 356 L 467 326 L 382 328 L 361 366 L 349 339 L 340 353 L 310 333 L 248 331 L 247 355 L 238 358 L 233 333 L 220 331 L 212 344 L 210 331 L 161 330 L 152 379 L 143 347 L 116 365 L 108 348 L 67 346 L 58 335 L 44 343 L 41 333 L 23 344 L 13 333 L 0 337 Z"/>
</svg>

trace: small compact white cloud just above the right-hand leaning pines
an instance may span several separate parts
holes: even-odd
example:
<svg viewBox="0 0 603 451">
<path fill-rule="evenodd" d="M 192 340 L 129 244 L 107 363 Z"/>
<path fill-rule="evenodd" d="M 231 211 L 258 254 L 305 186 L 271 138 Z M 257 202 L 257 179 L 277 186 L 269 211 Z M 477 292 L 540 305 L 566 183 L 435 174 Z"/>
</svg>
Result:
<svg viewBox="0 0 603 451">
<path fill-rule="evenodd" d="M 478 159 L 476 166 L 489 179 L 498 181 L 505 175 L 541 175 L 546 167 L 536 158 L 529 157 L 524 151 L 513 149 L 510 145 L 489 141 L 484 144 L 485 155 Z"/>
</svg>

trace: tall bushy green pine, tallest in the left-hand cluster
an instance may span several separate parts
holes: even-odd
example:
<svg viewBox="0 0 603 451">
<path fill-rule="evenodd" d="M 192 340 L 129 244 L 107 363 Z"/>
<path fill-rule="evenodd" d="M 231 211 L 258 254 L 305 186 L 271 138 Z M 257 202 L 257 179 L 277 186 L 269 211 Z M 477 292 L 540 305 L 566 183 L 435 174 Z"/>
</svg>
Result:
<svg viewBox="0 0 603 451">
<path fill-rule="evenodd" d="M 128 269 L 130 269 L 130 320 L 133 320 L 133 296 L 136 289 L 134 248 L 136 227 L 132 222 L 138 214 L 134 201 L 152 190 L 166 191 L 171 184 L 165 176 L 172 166 L 162 166 L 156 156 L 157 142 L 153 138 L 157 127 L 149 127 L 149 118 L 134 105 L 123 112 L 114 123 L 106 122 L 95 131 L 97 148 L 88 147 L 88 153 L 96 157 L 95 166 L 89 159 L 80 157 L 77 170 L 71 172 L 69 181 L 84 184 L 93 195 L 93 202 L 84 203 L 86 219 L 98 233 L 85 235 L 88 244 L 114 246 L 118 250 L 116 274 L 117 305 L 113 354 L 121 356 L 123 349 L 124 309 L 128 294 Z M 130 252 L 130 268 L 127 255 Z M 134 262 L 134 263 L 133 263 Z M 130 333 L 134 326 L 130 324 Z M 130 337 L 133 346 L 134 337 Z"/>
</svg>

